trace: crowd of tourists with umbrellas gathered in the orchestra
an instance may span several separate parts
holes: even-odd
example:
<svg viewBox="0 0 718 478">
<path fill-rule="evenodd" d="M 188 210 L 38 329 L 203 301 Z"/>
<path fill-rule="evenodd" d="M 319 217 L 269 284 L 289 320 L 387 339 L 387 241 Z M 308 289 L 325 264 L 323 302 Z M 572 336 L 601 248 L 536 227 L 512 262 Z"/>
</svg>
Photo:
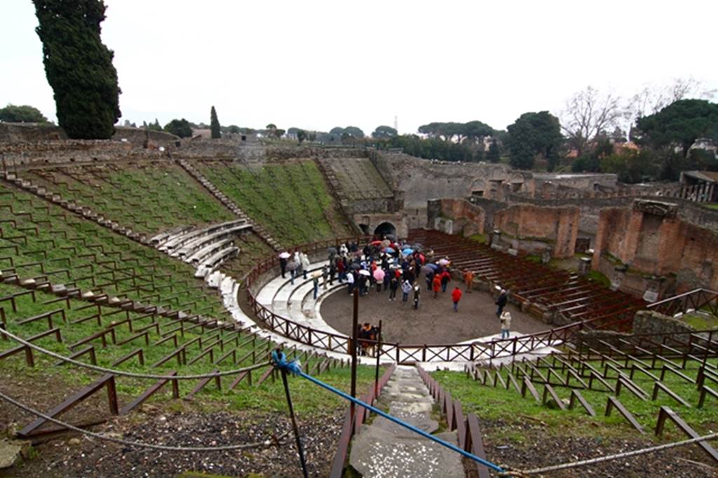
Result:
<svg viewBox="0 0 718 478">
<path fill-rule="evenodd" d="M 317 299 L 321 286 L 333 286 L 335 281 L 346 283 L 348 295 L 357 290 L 360 296 L 372 291 L 381 294 L 388 291 L 388 301 L 396 301 L 401 296 L 401 305 L 409 304 L 419 309 L 422 293 L 437 299 L 439 294 L 447 292 L 452 281 L 452 265 L 448 257 L 435 257 L 432 249 L 424 249 L 421 244 L 401 243 L 392 236 L 376 239 L 360 247 L 353 242 L 344 243 L 339 248 L 329 248 L 328 263 L 322 268 L 312 271 L 314 299 Z M 292 284 L 294 279 L 309 273 L 307 254 L 295 252 L 281 253 L 279 256 L 281 276 L 289 273 Z M 421 285 L 424 276 L 426 289 Z M 321 279 L 321 282 L 320 282 Z M 467 271 L 462 275 L 465 291 L 456 284 L 449 294 L 454 312 L 459 311 L 462 295 L 471 293 L 474 273 Z M 510 312 L 504 311 L 507 292 L 502 290 L 495 301 L 496 316 L 500 321 L 501 338 L 509 337 Z M 359 327 L 362 352 L 370 355 L 370 344 L 376 340 L 376 327 L 364 324 Z"/>
</svg>

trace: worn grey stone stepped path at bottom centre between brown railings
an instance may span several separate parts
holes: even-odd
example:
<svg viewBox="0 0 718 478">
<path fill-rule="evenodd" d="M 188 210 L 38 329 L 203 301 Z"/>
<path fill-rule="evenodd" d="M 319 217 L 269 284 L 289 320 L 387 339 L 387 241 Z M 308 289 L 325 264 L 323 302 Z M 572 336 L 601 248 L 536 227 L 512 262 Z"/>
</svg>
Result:
<svg viewBox="0 0 718 478">
<path fill-rule="evenodd" d="M 434 434 L 434 400 L 416 367 L 398 366 L 383 389 L 378 408 Z M 457 444 L 456 432 L 436 434 Z M 464 477 L 461 455 L 383 417 L 360 428 L 350 465 L 364 477 Z"/>
</svg>

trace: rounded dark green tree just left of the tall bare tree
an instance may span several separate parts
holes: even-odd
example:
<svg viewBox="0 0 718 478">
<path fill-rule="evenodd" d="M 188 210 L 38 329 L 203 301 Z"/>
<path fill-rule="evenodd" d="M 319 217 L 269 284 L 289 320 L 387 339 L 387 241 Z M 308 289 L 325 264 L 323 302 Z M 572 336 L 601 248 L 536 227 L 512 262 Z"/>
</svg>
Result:
<svg viewBox="0 0 718 478">
<path fill-rule="evenodd" d="M 549 169 L 556 165 L 563 137 L 559 118 L 548 111 L 523 113 L 508 127 L 510 164 L 516 169 L 531 169 L 536 155 L 549 161 Z"/>
</svg>

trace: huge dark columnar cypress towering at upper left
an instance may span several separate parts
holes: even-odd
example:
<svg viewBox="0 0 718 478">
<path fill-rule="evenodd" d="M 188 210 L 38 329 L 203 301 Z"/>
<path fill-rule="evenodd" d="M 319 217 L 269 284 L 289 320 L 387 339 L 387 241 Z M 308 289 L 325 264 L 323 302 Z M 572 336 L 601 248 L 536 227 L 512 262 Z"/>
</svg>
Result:
<svg viewBox="0 0 718 478">
<path fill-rule="evenodd" d="M 102 0 L 33 0 L 57 122 L 76 139 L 109 139 L 121 116 L 113 52 L 101 42 Z"/>
</svg>

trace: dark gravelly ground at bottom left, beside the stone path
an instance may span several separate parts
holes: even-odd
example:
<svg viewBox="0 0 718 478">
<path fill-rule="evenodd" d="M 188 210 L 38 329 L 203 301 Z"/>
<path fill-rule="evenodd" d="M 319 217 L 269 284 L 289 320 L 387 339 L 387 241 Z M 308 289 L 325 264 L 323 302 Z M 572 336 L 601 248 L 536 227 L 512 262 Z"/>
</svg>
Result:
<svg viewBox="0 0 718 478">
<path fill-rule="evenodd" d="M 305 456 L 312 477 L 329 474 L 342 426 L 343 411 L 299 417 Z M 98 427 L 103 434 L 130 441 L 174 446 L 223 446 L 264 441 L 290 431 L 289 417 L 277 413 L 169 412 L 143 406 L 141 413 L 115 418 Z M 78 439 L 79 438 L 79 439 Z M 7 477 L 172 477 L 187 471 L 244 477 L 301 476 L 299 456 L 290 434 L 279 446 L 240 451 L 190 453 L 134 449 L 83 437 L 50 441 L 37 457 L 15 467 Z"/>
</svg>

